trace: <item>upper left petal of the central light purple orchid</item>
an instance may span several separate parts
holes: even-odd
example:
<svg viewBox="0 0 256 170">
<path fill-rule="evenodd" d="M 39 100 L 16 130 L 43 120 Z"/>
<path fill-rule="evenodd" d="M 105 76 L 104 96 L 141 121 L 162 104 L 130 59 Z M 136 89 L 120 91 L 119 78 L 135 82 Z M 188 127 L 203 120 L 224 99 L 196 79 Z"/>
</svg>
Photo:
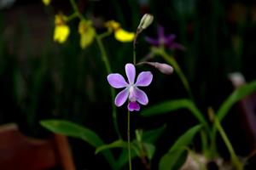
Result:
<svg viewBox="0 0 256 170">
<path fill-rule="evenodd" d="M 127 82 L 125 82 L 125 78 L 118 73 L 109 74 L 107 79 L 108 83 L 113 88 L 125 88 L 128 86 Z"/>
</svg>

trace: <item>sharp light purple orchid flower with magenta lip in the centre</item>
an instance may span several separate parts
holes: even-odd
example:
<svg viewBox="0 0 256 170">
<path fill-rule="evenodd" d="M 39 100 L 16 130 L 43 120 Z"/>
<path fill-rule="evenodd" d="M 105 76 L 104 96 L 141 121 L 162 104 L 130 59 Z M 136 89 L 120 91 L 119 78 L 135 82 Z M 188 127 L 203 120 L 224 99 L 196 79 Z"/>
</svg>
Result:
<svg viewBox="0 0 256 170">
<path fill-rule="evenodd" d="M 140 111 L 140 105 L 137 102 L 141 105 L 148 105 L 148 96 L 138 87 L 148 86 L 152 82 L 153 75 L 150 71 L 143 71 L 138 75 L 137 82 L 134 83 L 136 77 L 135 66 L 126 64 L 125 72 L 129 83 L 125 82 L 125 78 L 118 73 L 109 74 L 107 77 L 108 83 L 113 88 L 125 88 L 117 94 L 114 104 L 119 107 L 124 105 L 126 99 L 129 99 L 129 111 Z"/>
</svg>

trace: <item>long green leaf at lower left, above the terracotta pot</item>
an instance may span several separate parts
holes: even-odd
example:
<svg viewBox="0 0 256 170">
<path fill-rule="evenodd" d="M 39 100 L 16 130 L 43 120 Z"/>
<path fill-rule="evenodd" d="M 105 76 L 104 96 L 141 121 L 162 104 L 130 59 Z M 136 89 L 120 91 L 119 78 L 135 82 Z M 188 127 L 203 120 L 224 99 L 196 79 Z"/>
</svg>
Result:
<svg viewBox="0 0 256 170">
<path fill-rule="evenodd" d="M 52 119 L 41 121 L 40 124 L 53 133 L 60 133 L 69 137 L 83 139 L 93 147 L 104 145 L 102 139 L 95 132 L 73 122 Z M 112 153 L 109 150 L 104 150 L 102 155 L 108 160 L 109 165 L 115 169 L 116 165 Z"/>
</svg>

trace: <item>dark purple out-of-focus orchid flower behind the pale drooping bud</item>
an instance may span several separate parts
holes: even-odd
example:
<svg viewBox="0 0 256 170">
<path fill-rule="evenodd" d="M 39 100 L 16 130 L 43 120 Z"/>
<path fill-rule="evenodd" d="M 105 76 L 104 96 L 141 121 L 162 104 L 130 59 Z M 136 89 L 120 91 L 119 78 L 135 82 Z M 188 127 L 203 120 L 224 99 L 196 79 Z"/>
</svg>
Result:
<svg viewBox="0 0 256 170">
<path fill-rule="evenodd" d="M 163 26 L 157 27 L 157 35 L 158 37 L 156 39 L 152 37 L 145 37 L 145 39 L 148 43 L 151 43 L 156 47 L 165 46 L 171 49 L 180 49 L 180 50 L 184 49 L 182 44 L 174 42 L 176 38 L 175 34 L 169 34 L 165 36 L 165 29 Z"/>
</svg>

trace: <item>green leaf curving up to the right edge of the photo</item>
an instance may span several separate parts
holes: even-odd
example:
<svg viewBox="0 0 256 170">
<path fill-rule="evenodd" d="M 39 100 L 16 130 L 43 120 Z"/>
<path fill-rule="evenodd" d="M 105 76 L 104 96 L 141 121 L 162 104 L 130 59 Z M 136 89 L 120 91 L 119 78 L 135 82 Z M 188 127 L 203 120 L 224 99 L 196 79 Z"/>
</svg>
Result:
<svg viewBox="0 0 256 170">
<path fill-rule="evenodd" d="M 256 91 L 256 81 L 249 82 L 240 88 L 237 88 L 230 97 L 224 101 L 220 106 L 217 112 L 218 121 L 221 122 L 224 119 L 224 116 L 228 114 L 232 105 L 236 104 L 237 101 L 243 99 L 249 94 L 252 94 Z"/>
</svg>

